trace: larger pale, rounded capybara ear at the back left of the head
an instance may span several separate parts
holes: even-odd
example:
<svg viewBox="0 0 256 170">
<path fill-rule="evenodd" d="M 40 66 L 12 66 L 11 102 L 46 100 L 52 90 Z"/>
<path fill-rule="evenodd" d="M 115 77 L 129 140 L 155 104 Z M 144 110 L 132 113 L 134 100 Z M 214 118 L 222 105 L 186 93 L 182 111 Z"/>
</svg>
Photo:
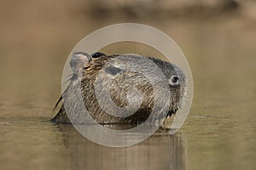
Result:
<svg viewBox="0 0 256 170">
<path fill-rule="evenodd" d="M 90 54 L 87 54 L 85 52 L 76 52 L 73 54 L 73 57 L 70 60 L 69 64 L 71 69 L 74 72 L 77 72 L 79 71 L 79 68 L 88 66 L 90 60 L 91 60 Z"/>
</svg>

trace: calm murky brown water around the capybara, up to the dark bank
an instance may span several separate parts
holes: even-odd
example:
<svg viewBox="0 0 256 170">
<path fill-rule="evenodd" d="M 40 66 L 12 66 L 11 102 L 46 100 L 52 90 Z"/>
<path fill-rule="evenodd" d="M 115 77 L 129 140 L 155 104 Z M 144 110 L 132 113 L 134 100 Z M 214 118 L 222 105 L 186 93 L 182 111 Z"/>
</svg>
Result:
<svg viewBox="0 0 256 170">
<path fill-rule="evenodd" d="M 22 8 L 19 20 L 6 16 L 0 32 L 0 169 L 256 167 L 255 20 L 220 15 L 102 21 L 70 9 L 47 16 L 32 10 L 38 14 L 32 17 Z M 177 42 L 189 60 L 195 96 L 177 134 L 156 133 L 131 147 L 110 148 L 48 120 L 75 43 L 96 28 L 125 21 L 155 26 Z"/>
</svg>

